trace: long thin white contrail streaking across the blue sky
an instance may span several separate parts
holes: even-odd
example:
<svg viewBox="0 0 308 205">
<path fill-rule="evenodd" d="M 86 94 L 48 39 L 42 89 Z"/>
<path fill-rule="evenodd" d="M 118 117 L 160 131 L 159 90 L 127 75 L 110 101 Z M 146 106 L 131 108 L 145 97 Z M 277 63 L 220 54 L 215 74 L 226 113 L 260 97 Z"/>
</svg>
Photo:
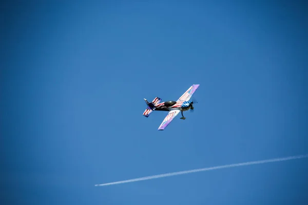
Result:
<svg viewBox="0 0 308 205">
<path fill-rule="evenodd" d="M 292 160 L 292 159 L 301 159 L 308 157 L 308 154 L 305 155 L 297 155 L 297 156 L 290 156 L 290 157 L 283 157 L 283 158 L 275 158 L 275 159 L 266 159 L 266 160 L 259 160 L 259 161 L 249 161 L 249 162 L 243 162 L 243 163 L 233 163 L 231 165 L 223 165 L 223 166 L 217 166 L 217 167 L 209 167 L 209 168 L 203 168 L 203 169 L 195 169 L 195 170 L 187 170 L 187 171 L 180 171 L 180 172 L 171 172 L 166 174 L 159 174 L 159 175 L 153 175 L 153 176 L 146 176 L 146 177 L 140 177 L 135 179 L 128 179 L 123 181 L 115 181 L 110 183 L 101 183 L 100 185 L 95 186 L 108 186 L 108 185 L 117 185 L 120 183 L 128 183 L 128 182 L 135 182 L 135 181 L 143 181 L 143 180 L 149 180 L 149 179 L 156 179 L 156 178 L 163 178 L 168 176 L 176 176 L 181 174 L 189 174 L 193 172 L 205 172 L 210 170 L 219 170 L 219 169 L 225 169 L 225 168 L 232 168 L 232 167 L 241 167 L 241 166 L 248 166 L 248 165 L 257 165 L 260 163 L 269 163 L 269 162 L 276 162 L 276 161 L 286 161 L 286 160 Z"/>
</svg>

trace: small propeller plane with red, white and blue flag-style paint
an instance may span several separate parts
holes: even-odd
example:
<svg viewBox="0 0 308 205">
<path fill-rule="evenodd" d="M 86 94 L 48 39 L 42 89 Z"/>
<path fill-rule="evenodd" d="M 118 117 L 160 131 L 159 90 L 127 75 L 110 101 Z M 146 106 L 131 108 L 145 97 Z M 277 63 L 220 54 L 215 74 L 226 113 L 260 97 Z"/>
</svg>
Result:
<svg viewBox="0 0 308 205">
<path fill-rule="evenodd" d="M 148 107 L 143 112 L 143 116 L 148 117 L 153 111 L 169 111 L 158 130 L 164 130 L 170 124 L 172 119 L 174 119 L 180 112 L 182 114 L 181 119 L 185 119 L 186 117 L 184 117 L 183 111 L 194 109 L 194 107 L 192 107 L 194 102 L 189 101 L 189 99 L 196 92 L 199 86 L 199 84 L 190 86 L 190 88 L 188 88 L 188 90 L 177 101 L 165 101 L 160 103 L 162 99 L 156 97 L 151 101 L 151 103 L 149 103 L 144 99 Z"/>
</svg>

